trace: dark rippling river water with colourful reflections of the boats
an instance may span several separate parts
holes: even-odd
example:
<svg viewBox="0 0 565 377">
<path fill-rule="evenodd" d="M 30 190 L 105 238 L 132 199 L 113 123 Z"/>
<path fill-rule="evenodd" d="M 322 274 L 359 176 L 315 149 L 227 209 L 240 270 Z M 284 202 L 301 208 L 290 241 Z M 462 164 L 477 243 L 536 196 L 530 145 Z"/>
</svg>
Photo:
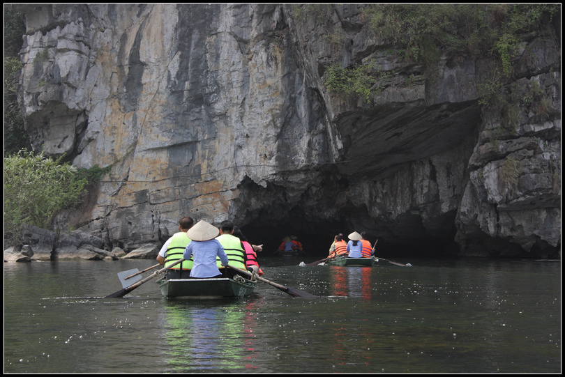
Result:
<svg viewBox="0 0 565 377">
<path fill-rule="evenodd" d="M 261 256 L 259 255 L 259 258 Z M 124 298 L 136 261 L 4 263 L 5 373 L 560 373 L 561 263 L 260 258 L 250 298 Z M 149 275 L 151 272 L 146 272 Z"/>
</svg>

